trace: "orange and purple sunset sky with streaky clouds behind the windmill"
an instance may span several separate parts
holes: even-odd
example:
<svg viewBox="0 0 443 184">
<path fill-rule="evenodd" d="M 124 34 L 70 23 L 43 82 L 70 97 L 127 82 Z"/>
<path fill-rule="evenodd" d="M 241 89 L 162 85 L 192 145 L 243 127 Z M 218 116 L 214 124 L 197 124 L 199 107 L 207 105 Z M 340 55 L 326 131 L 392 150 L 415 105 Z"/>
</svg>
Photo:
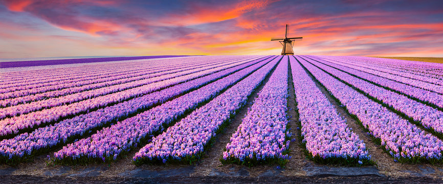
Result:
<svg viewBox="0 0 443 184">
<path fill-rule="evenodd" d="M 93 2 L 93 3 L 92 3 Z M 315 3 L 313 3 L 315 2 Z M 0 0 L 0 58 L 278 55 L 443 57 L 443 1 Z"/>
</svg>

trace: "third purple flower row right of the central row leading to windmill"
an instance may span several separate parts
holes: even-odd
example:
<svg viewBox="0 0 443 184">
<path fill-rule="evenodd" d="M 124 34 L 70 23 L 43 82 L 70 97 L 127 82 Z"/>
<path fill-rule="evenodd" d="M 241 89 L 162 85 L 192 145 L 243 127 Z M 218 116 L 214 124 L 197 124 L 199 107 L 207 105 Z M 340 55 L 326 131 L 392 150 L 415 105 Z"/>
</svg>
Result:
<svg viewBox="0 0 443 184">
<path fill-rule="evenodd" d="M 409 119 L 422 124 L 425 128 L 431 129 L 438 134 L 443 133 L 443 112 L 423 103 L 409 99 L 404 95 L 397 94 L 391 90 L 376 86 L 357 77 L 353 77 L 345 72 L 341 72 L 333 67 L 324 65 L 312 59 L 309 62 L 322 68 L 329 74 L 360 89 L 363 93 L 375 98 L 382 103 L 392 107 L 395 111 L 405 114 Z"/>
</svg>

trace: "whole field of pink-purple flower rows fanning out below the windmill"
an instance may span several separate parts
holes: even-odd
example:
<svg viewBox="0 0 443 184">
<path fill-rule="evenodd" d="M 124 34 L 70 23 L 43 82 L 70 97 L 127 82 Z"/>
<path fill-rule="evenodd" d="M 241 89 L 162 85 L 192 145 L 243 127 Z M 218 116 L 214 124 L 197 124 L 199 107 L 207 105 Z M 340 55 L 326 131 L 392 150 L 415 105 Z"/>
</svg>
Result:
<svg viewBox="0 0 443 184">
<path fill-rule="evenodd" d="M 296 144 L 314 163 L 374 165 L 338 108 L 394 162 L 443 163 L 443 64 L 309 55 L 95 60 L 0 73 L 0 164 L 42 155 L 55 165 L 101 164 L 135 153 L 137 166 L 192 165 L 244 110 L 224 135 L 220 164 L 284 166 Z"/>
</svg>

